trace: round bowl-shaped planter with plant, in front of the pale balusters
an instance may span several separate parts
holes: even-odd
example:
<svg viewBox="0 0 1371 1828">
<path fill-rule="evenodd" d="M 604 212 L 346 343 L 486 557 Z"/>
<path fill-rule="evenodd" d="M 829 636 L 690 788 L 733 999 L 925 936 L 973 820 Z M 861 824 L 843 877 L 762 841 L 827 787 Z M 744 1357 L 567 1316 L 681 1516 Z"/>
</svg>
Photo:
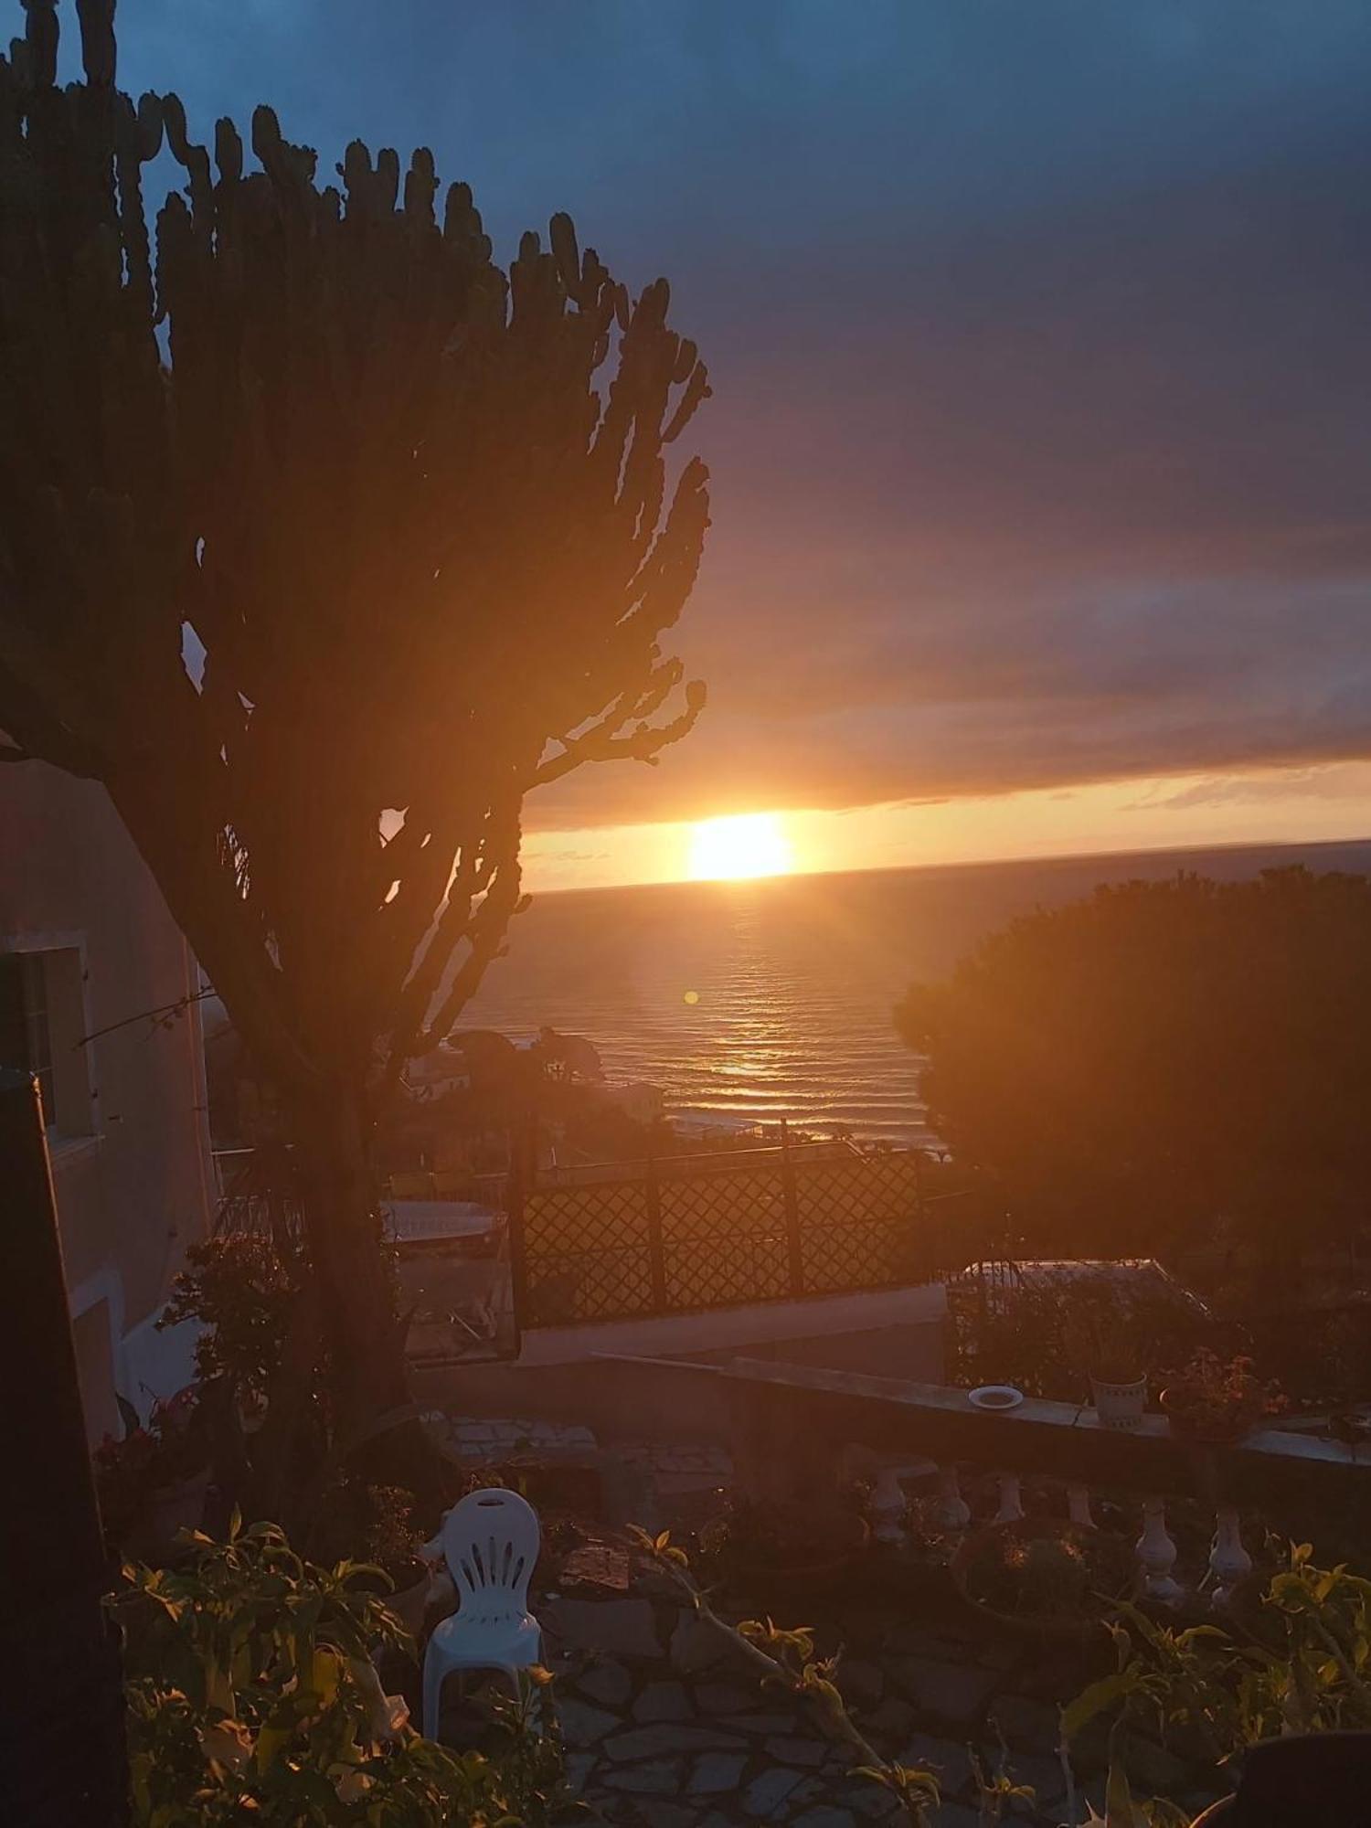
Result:
<svg viewBox="0 0 1371 1828">
<path fill-rule="evenodd" d="M 1133 1583 L 1133 1546 L 1122 1536 L 1020 1517 L 972 1530 L 952 1556 L 952 1581 L 982 1620 L 1018 1636 L 1082 1642 Z"/>
</svg>

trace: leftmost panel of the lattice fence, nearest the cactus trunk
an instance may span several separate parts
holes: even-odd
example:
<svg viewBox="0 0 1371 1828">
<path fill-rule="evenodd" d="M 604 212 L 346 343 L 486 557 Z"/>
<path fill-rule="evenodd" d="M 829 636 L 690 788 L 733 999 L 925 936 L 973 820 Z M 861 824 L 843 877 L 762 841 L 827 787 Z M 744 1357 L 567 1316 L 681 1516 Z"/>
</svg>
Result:
<svg viewBox="0 0 1371 1828">
<path fill-rule="evenodd" d="M 654 1311 L 643 1181 L 526 1194 L 523 1254 L 530 1327 Z"/>
</svg>

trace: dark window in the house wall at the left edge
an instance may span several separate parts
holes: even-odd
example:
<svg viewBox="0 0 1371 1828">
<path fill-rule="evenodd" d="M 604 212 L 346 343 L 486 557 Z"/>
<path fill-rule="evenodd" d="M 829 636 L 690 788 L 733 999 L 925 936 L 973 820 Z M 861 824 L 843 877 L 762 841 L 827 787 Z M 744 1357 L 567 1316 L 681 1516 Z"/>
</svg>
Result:
<svg viewBox="0 0 1371 1828">
<path fill-rule="evenodd" d="M 0 952 L 0 1066 L 37 1077 L 49 1135 L 88 1135 L 91 1130 L 80 1033 L 80 954 L 75 947 Z"/>
</svg>

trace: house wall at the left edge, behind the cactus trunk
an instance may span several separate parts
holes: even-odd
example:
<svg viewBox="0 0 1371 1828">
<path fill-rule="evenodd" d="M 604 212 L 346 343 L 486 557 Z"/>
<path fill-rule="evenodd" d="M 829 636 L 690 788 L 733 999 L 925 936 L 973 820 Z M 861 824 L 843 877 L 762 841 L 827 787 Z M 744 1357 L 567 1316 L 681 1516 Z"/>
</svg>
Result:
<svg viewBox="0 0 1371 1828">
<path fill-rule="evenodd" d="M 0 770 L 0 1062 L 38 1075 L 91 1442 L 192 1375 L 194 1334 L 157 1333 L 212 1214 L 190 947 L 104 788 L 40 762 Z M 104 1031 L 104 1033 L 102 1033 Z M 86 1036 L 93 1036 L 86 1040 Z"/>
</svg>

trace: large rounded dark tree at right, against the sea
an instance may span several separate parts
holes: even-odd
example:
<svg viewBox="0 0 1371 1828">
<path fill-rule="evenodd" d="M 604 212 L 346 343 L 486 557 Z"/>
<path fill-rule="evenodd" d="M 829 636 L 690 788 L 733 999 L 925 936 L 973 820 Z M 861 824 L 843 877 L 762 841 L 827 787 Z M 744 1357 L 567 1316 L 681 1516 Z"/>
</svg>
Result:
<svg viewBox="0 0 1371 1828">
<path fill-rule="evenodd" d="M 983 940 L 898 1009 L 930 1119 L 1035 1241 L 1155 1252 L 1230 1214 L 1280 1238 L 1371 1168 L 1371 881 L 1267 870 L 1102 887 Z"/>
</svg>

